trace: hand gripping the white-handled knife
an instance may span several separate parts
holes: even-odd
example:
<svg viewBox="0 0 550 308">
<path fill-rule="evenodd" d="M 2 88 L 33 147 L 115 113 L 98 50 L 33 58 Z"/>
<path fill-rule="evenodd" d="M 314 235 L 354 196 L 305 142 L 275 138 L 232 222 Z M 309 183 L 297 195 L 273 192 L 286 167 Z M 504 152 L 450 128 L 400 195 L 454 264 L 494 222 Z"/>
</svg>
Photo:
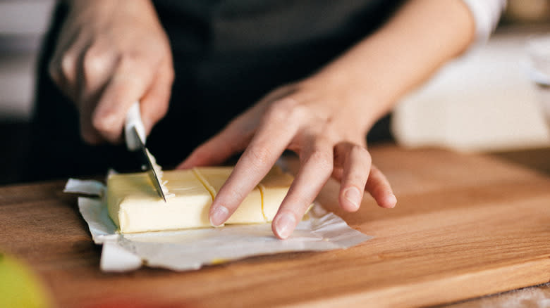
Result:
<svg viewBox="0 0 550 308">
<path fill-rule="evenodd" d="M 75 102 L 87 143 L 121 140 L 126 112 L 140 100 L 147 134 L 168 110 L 169 40 L 149 0 L 68 1 L 49 72 Z"/>
</svg>

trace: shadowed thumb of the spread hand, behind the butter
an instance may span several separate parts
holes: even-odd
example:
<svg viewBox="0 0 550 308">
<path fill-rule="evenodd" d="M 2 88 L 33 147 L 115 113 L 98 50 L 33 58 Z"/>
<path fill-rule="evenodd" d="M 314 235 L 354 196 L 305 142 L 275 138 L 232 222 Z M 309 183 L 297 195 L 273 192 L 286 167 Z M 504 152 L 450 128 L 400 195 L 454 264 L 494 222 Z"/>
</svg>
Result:
<svg viewBox="0 0 550 308">
<path fill-rule="evenodd" d="M 226 128 L 193 150 L 193 153 L 177 168 L 188 169 L 196 166 L 219 165 L 231 155 L 244 150 L 254 133 L 244 123 L 248 116 L 245 113 L 230 122 Z"/>
</svg>

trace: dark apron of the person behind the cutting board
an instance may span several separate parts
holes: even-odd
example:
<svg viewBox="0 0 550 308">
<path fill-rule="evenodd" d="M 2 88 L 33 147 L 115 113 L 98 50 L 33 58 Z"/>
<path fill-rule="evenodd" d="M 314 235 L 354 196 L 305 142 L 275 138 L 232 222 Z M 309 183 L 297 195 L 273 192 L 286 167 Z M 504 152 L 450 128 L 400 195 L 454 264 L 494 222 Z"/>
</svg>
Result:
<svg viewBox="0 0 550 308">
<path fill-rule="evenodd" d="M 318 70 L 375 30 L 398 6 L 389 0 L 157 0 L 176 79 L 169 112 L 147 148 L 163 167 L 181 162 L 272 89 Z M 78 113 L 51 82 L 47 63 L 66 18 L 60 4 L 39 59 L 32 150 L 25 181 L 134 170 L 125 146 L 87 146 Z M 389 117 L 369 143 L 391 139 Z"/>
</svg>

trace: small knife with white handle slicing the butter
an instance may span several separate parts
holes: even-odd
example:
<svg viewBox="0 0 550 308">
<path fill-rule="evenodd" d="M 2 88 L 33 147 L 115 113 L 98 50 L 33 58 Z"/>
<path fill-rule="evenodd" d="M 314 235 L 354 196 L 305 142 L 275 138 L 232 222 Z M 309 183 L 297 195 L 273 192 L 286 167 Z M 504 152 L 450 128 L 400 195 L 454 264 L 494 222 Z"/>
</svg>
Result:
<svg viewBox="0 0 550 308">
<path fill-rule="evenodd" d="M 126 122 L 124 123 L 124 135 L 126 137 L 126 147 L 130 151 L 139 151 L 140 160 L 142 161 L 142 169 L 147 172 L 149 179 L 153 184 L 154 190 L 166 202 L 166 196 L 162 190 L 159 172 L 161 168 L 155 162 L 149 150 L 145 148 L 145 127 L 141 120 L 140 102 L 136 101 L 126 114 Z"/>
</svg>

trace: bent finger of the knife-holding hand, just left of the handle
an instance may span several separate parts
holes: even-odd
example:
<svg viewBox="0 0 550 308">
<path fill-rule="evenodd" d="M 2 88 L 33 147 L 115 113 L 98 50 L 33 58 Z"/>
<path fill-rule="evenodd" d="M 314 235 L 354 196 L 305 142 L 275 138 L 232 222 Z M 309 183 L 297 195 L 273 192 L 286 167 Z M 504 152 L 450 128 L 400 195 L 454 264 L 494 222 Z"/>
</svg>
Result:
<svg viewBox="0 0 550 308">
<path fill-rule="evenodd" d="M 149 88 L 154 76 L 151 72 L 152 68 L 138 58 L 125 56 L 118 61 L 91 119 L 87 119 L 104 139 L 111 143 L 121 140 L 126 113 Z"/>
</svg>

